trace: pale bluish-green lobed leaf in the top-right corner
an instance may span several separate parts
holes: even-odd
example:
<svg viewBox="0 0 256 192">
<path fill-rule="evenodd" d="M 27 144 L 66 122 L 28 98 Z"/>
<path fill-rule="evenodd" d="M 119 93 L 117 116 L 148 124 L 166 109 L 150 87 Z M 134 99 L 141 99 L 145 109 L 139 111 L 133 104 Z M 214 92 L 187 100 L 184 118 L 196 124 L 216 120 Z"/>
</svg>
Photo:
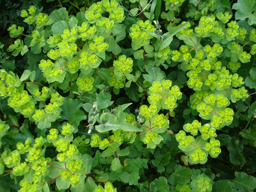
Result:
<svg viewBox="0 0 256 192">
<path fill-rule="evenodd" d="M 254 4 L 254 0 L 238 0 L 232 7 L 233 10 L 237 10 L 235 20 L 245 20 L 248 18 L 249 25 L 256 24 L 256 12 L 253 12 L 255 11 Z"/>
</svg>

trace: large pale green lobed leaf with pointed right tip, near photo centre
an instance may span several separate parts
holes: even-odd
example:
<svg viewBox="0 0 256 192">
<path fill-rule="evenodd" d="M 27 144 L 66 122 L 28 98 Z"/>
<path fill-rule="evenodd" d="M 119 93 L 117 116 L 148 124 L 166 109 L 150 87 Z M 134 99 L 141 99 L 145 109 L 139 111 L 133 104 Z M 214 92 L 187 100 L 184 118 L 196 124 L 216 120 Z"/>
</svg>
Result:
<svg viewBox="0 0 256 192">
<path fill-rule="evenodd" d="M 115 115 L 112 115 L 110 113 L 104 113 L 104 118 L 107 120 L 105 124 L 95 126 L 96 130 L 100 133 L 110 130 L 115 131 L 117 129 L 122 129 L 123 131 L 142 131 L 131 123 L 127 123 L 125 121 L 125 115 L 122 111 L 120 112 L 118 120 Z"/>
</svg>

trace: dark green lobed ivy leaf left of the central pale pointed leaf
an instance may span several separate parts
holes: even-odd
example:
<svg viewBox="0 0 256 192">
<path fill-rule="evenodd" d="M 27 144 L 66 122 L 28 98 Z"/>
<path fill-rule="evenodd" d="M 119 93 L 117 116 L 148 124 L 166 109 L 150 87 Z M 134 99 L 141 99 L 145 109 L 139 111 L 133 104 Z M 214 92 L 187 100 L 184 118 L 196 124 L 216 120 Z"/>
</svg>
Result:
<svg viewBox="0 0 256 192">
<path fill-rule="evenodd" d="M 74 133 L 78 131 L 80 121 L 86 119 L 85 113 L 80 110 L 82 104 L 82 101 L 78 99 L 65 98 L 65 102 L 60 107 L 62 109 L 61 118 L 68 120 L 70 124 L 73 123 Z"/>
</svg>

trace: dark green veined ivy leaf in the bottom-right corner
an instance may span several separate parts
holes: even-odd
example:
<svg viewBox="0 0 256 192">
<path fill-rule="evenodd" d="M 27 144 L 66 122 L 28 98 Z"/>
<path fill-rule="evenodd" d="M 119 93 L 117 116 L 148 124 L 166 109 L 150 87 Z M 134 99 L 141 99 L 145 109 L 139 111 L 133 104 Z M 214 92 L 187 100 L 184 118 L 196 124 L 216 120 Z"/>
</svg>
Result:
<svg viewBox="0 0 256 192">
<path fill-rule="evenodd" d="M 232 181 L 234 182 L 234 191 L 239 189 L 241 192 L 250 192 L 256 188 L 256 178 L 245 172 L 235 172 L 235 179 Z"/>
</svg>

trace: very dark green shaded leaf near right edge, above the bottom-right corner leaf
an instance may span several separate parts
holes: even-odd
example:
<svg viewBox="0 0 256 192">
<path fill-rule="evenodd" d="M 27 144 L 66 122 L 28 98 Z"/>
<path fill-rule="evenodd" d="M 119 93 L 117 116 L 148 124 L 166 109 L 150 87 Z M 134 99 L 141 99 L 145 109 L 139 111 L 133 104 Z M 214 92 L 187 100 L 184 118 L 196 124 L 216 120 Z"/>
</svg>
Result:
<svg viewBox="0 0 256 192">
<path fill-rule="evenodd" d="M 239 144 L 239 140 L 235 140 L 234 137 L 227 143 L 227 150 L 229 151 L 229 160 L 234 165 L 243 166 L 245 158 L 241 153 L 243 149 L 242 144 Z"/>
</svg>

